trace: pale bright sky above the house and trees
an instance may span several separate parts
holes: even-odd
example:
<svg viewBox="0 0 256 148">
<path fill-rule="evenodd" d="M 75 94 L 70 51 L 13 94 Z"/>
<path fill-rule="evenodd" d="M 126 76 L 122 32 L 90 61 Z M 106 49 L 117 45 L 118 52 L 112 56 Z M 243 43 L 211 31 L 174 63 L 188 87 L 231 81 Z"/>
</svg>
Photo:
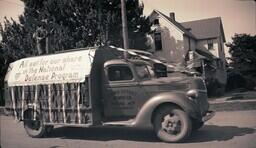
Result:
<svg viewBox="0 0 256 148">
<path fill-rule="evenodd" d="M 254 0 L 140 0 L 144 15 L 153 9 L 169 15 L 175 13 L 176 21 L 186 22 L 211 17 L 221 17 L 227 42 L 235 33 L 256 34 L 256 2 Z M 24 5 L 20 0 L 0 0 L 0 22 L 4 16 L 18 20 Z M 226 48 L 227 51 L 227 48 Z"/>
</svg>

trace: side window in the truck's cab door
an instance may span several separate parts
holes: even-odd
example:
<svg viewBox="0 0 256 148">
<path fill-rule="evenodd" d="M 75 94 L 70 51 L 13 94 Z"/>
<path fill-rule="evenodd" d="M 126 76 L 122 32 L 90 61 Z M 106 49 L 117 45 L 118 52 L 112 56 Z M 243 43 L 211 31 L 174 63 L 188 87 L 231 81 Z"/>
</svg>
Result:
<svg viewBox="0 0 256 148">
<path fill-rule="evenodd" d="M 108 68 L 109 81 L 132 80 L 132 71 L 128 66 L 111 66 Z"/>
</svg>

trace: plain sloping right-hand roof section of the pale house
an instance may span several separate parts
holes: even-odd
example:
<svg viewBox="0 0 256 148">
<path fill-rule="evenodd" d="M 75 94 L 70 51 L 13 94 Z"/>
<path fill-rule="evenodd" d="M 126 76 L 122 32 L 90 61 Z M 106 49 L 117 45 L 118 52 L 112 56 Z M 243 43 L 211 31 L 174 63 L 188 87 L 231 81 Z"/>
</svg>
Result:
<svg viewBox="0 0 256 148">
<path fill-rule="evenodd" d="M 196 39 L 209 39 L 222 36 L 224 42 L 226 41 L 220 17 L 183 22 L 181 25 L 186 29 L 191 29 L 190 32 L 195 35 Z"/>
</svg>

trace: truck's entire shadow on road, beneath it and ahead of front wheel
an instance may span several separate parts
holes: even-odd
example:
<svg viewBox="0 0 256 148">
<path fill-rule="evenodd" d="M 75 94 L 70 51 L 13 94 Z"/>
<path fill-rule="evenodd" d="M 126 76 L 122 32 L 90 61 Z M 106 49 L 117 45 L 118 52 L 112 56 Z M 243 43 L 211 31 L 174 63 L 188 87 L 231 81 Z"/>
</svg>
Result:
<svg viewBox="0 0 256 148">
<path fill-rule="evenodd" d="M 236 126 L 205 125 L 202 129 L 191 134 L 185 143 L 226 141 L 235 136 L 244 136 L 255 133 L 253 128 Z M 134 129 L 125 127 L 100 128 L 54 128 L 48 138 L 81 139 L 94 141 L 128 140 L 143 142 L 160 142 L 151 129 Z"/>
</svg>

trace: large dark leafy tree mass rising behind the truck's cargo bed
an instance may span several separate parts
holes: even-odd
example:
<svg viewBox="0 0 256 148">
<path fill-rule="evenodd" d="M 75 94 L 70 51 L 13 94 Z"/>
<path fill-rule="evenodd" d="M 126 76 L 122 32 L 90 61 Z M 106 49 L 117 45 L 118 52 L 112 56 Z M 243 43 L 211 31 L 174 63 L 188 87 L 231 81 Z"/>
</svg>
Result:
<svg viewBox="0 0 256 148">
<path fill-rule="evenodd" d="M 51 51 L 111 44 L 122 47 L 120 0 L 23 0 L 24 14 L 20 24 L 5 20 L 3 39 L 5 49 L 14 45 L 9 40 L 18 37 L 22 42 L 15 43 L 25 55 L 37 55 L 35 33 L 46 31 Z M 143 16 L 143 4 L 139 0 L 127 1 L 128 34 L 131 48 L 146 49 L 146 33 L 150 30 L 149 21 Z M 20 32 L 10 35 L 12 27 Z M 17 29 L 16 29 L 17 30 Z M 12 50 L 12 49 L 11 49 Z"/>
</svg>

